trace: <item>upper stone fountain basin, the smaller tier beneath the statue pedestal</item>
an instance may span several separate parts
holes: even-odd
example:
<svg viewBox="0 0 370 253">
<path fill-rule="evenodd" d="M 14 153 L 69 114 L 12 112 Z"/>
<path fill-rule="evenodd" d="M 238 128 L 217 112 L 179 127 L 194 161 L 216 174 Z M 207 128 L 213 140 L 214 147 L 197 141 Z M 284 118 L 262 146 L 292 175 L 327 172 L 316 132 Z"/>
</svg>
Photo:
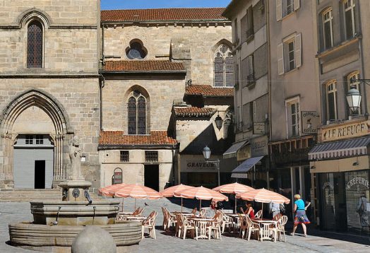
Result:
<svg viewBox="0 0 370 253">
<path fill-rule="evenodd" d="M 57 216 L 58 225 L 114 224 L 119 211 L 119 203 L 111 199 L 95 200 L 88 206 L 87 201 L 30 202 L 33 223 L 40 225 L 52 225 Z"/>
</svg>

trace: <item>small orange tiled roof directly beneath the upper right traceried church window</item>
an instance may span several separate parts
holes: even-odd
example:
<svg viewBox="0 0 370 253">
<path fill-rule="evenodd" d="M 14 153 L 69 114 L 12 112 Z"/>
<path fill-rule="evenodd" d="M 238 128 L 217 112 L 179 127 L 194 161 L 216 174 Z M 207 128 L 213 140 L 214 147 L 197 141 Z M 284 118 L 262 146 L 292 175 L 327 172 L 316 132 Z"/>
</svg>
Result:
<svg viewBox="0 0 370 253">
<path fill-rule="evenodd" d="M 186 87 L 185 95 L 203 95 L 203 97 L 232 97 L 234 88 L 191 85 Z"/>
</svg>

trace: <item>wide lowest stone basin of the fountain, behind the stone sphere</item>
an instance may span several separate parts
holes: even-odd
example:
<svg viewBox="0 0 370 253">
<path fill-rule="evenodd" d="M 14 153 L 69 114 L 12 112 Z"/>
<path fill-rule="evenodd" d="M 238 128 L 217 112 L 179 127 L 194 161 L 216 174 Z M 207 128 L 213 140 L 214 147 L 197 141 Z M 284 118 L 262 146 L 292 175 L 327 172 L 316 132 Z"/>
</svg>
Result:
<svg viewBox="0 0 370 253">
<path fill-rule="evenodd" d="M 97 225 L 112 235 L 117 247 L 138 245 L 141 241 L 141 223 L 121 221 L 116 224 Z M 82 230 L 83 225 L 40 225 L 32 222 L 11 223 L 8 225 L 11 244 L 18 247 L 40 250 L 53 247 L 68 247 Z M 35 248 L 33 248 L 35 247 Z M 49 248 L 47 248 L 49 247 Z M 127 248 L 128 250 L 129 248 Z"/>
</svg>

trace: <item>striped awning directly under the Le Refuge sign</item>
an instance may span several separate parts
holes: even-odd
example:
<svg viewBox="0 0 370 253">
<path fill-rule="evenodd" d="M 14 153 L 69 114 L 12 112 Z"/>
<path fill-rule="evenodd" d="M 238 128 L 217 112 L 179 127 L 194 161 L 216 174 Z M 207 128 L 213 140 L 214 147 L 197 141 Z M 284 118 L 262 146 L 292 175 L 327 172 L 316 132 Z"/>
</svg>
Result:
<svg viewBox="0 0 370 253">
<path fill-rule="evenodd" d="M 309 151 L 309 160 L 329 160 L 367 155 L 370 136 L 344 141 L 320 143 Z"/>
</svg>

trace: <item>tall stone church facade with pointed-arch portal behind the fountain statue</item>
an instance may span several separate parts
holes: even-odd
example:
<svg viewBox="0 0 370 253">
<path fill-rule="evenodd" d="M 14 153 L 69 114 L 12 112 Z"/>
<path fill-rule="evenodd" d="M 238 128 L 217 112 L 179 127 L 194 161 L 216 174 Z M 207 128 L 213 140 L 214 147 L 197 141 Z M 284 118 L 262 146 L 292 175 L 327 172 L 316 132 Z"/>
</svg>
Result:
<svg viewBox="0 0 370 253">
<path fill-rule="evenodd" d="M 34 188 L 40 175 L 53 187 L 65 180 L 73 135 L 96 187 L 100 2 L 4 0 L 0 7 L 0 187 Z M 47 142 L 52 154 L 36 158 Z M 46 163 L 36 166 L 37 159 Z"/>
</svg>

